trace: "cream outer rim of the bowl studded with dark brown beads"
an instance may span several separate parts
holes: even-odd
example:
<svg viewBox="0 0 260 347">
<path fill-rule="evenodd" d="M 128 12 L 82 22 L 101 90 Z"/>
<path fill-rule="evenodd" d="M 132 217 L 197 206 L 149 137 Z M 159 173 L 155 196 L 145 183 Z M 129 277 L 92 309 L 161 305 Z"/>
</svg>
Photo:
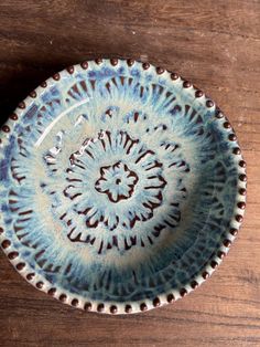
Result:
<svg viewBox="0 0 260 347">
<path fill-rule="evenodd" d="M 172 290 L 166 293 L 160 294 L 154 298 L 144 298 L 142 301 L 137 302 L 110 302 L 110 301 L 94 301 L 86 299 L 80 295 L 74 295 L 68 291 L 61 291 L 59 288 L 53 286 L 44 276 L 39 275 L 32 267 L 20 256 L 19 252 L 11 244 L 11 240 L 4 235 L 4 228 L 1 225 L 0 218 L 0 245 L 9 261 L 13 265 L 13 267 L 33 286 L 37 290 L 47 293 L 50 296 L 55 297 L 56 299 L 68 304 L 71 306 L 82 308 L 87 312 L 97 312 L 105 314 L 133 314 L 140 313 L 148 309 L 152 309 L 155 307 L 164 306 L 170 303 L 177 301 L 181 297 L 184 297 L 186 294 L 193 292 L 196 287 L 198 287 L 202 283 L 204 283 L 218 267 L 218 265 L 223 262 L 223 259 L 228 253 L 230 245 L 235 241 L 238 230 L 243 220 L 243 213 L 246 209 L 246 194 L 247 194 L 247 176 L 246 176 L 246 161 L 241 155 L 241 149 L 237 140 L 236 133 L 230 125 L 227 116 L 220 111 L 219 107 L 215 105 L 212 98 L 207 97 L 199 88 L 193 85 L 189 81 L 182 78 L 177 73 L 164 70 L 160 66 L 154 66 L 148 62 L 140 62 L 132 59 L 96 59 L 84 61 L 80 64 L 71 65 L 58 73 L 55 73 L 52 77 L 42 82 L 39 87 L 32 91 L 29 96 L 21 103 L 19 103 L 18 107 L 10 115 L 9 119 L 1 127 L 0 130 L 0 150 L 4 148 L 4 141 L 8 143 L 9 135 L 12 132 L 14 125 L 19 122 L 20 117 L 23 116 L 23 113 L 30 106 L 30 104 L 37 98 L 37 95 L 42 94 L 48 85 L 53 85 L 53 83 L 59 83 L 64 77 L 68 75 L 73 75 L 76 71 L 86 71 L 89 67 L 90 63 L 95 63 L 97 65 L 102 65 L 104 62 L 110 63 L 111 67 L 117 67 L 120 63 L 127 64 L 129 69 L 131 69 L 134 64 L 140 64 L 142 70 L 149 71 L 151 67 L 155 70 L 155 73 L 159 75 L 169 74 L 172 80 L 172 83 L 181 82 L 183 84 L 183 91 L 188 90 L 194 94 L 194 99 L 199 98 L 205 107 L 208 109 L 214 109 L 215 117 L 218 122 L 221 123 L 224 132 L 227 133 L 227 140 L 234 144 L 232 153 L 230 155 L 236 157 L 237 160 L 237 169 L 238 169 L 238 183 L 237 183 L 237 194 L 236 194 L 236 203 L 234 207 L 232 218 L 230 219 L 230 225 L 225 232 L 225 236 L 223 239 L 221 245 L 214 251 L 214 256 L 209 257 L 208 262 L 204 266 L 204 269 L 191 280 L 191 282 L 186 283 L 178 290 Z M 134 309 L 132 304 L 134 305 Z"/>
</svg>

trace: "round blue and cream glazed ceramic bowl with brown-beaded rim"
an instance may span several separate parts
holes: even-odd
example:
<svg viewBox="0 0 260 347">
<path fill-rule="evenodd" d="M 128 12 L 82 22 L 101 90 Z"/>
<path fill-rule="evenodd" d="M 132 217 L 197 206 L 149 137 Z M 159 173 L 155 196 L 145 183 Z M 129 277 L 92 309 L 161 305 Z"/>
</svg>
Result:
<svg viewBox="0 0 260 347">
<path fill-rule="evenodd" d="M 173 303 L 219 265 L 246 207 L 230 123 L 176 73 L 96 60 L 42 83 L 1 128 L 0 244 L 86 311 Z"/>
</svg>

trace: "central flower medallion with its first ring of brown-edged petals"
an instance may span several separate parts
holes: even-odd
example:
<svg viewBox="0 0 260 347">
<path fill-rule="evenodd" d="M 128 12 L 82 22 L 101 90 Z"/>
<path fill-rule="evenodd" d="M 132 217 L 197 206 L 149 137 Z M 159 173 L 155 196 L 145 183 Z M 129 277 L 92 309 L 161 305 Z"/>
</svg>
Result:
<svg viewBox="0 0 260 347">
<path fill-rule="evenodd" d="M 116 164 L 104 166 L 107 161 Z M 137 221 L 152 218 L 166 185 L 155 154 L 126 132 L 90 139 L 67 172 L 71 183 L 64 194 L 75 203 L 74 210 L 88 228 L 102 224 L 110 231 L 119 225 L 132 229 Z"/>
</svg>

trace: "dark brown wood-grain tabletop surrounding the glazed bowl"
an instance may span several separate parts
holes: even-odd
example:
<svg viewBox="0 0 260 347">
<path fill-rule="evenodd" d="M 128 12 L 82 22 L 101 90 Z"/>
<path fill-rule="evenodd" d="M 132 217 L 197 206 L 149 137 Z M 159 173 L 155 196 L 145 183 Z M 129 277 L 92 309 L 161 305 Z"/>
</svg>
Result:
<svg viewBox="0 0 260 347">
<path fill-rule="evenodd" d="M 217 102 L 248 164 L 245 223 L 203 286 L 132 316 L 62 305 L 0 252 L 0 346 L 260 346 L 260 1 L 1 0 L 1 122 L 54 72 L 96 56 L 149 60 Z"/>
</svg>

